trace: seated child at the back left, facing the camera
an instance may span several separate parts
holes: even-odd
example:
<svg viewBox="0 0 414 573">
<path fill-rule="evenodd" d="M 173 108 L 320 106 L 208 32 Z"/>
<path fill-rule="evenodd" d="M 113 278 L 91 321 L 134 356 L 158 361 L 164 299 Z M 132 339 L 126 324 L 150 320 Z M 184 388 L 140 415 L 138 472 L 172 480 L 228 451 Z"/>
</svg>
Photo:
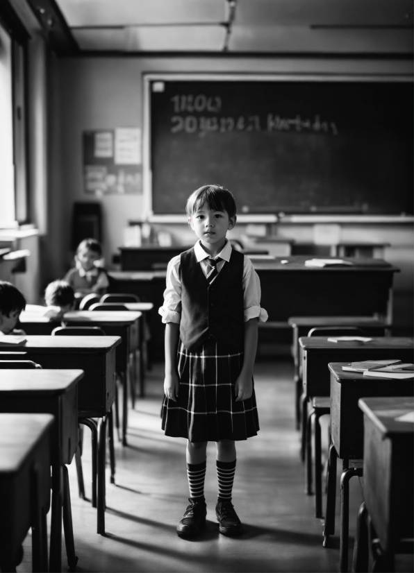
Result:
<svg viewBox="0 0 414 573">
<path fill-rule="evenodd" d="M 63 280 L 75 291 L 76 298 L 90 293 L 104 295 L 109 286 L 108 275 L 98 266 L 102 257 L 101 245 L 95 239 L 84 239 L 76 249 L 76 268 L 71 268 Z"/>
</svg>

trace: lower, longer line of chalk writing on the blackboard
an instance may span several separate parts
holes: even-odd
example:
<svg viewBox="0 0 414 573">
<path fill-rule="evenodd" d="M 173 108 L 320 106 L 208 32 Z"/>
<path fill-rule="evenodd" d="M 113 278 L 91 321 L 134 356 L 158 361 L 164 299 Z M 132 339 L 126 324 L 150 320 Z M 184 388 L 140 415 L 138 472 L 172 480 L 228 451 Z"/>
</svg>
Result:
<svg viewBox="0 0 414 573">
<path fill-rule="evenodd" d="M 171 118 L 171 133 L 199 132 L 203 137 L 208 132 L 225 133 L 229 131 L 295 131 L 295 132 L 313 132 L 313 133 L 331 133 L 338 135 L 338 128 L 334 121 L 321 121 L 319 115 L 313 119 L 301 119 L 300 115 L 296 117 L 281 117 L 279 115 L 267 114 L 265 127 L 260 124 L 258 115 L 248 117 L 196 117 L 195 115 L 173 115 Z"/>
</svg>

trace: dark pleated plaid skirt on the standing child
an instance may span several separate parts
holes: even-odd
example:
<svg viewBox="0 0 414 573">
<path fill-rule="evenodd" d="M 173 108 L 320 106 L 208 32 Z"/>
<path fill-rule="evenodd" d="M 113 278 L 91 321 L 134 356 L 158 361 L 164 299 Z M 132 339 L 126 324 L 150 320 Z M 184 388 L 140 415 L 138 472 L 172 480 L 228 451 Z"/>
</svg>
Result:
<svg viewBox="0 0 414 573">
<path fill-rule="evenodd" d="M 164 397 L 162 427 L 167 436 L 190 442 L 247 440 L 259 424 L 256 396 L 235 401 L 234 384 L 243 365 L 243 352 L 229 354 L 210 338 L 197 352 L 181 342 L 178 351 L 179 397 Z"/>
</svg>

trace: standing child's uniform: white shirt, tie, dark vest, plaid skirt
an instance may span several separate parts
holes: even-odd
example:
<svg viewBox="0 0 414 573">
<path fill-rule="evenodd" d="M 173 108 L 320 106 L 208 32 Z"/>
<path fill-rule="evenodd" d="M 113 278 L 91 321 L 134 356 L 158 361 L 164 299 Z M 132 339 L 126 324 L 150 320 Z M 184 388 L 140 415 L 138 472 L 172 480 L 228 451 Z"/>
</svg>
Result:
<svg viewBox="0 0 414 573">
<path fill-rule="evenodd" d="M 244 354 L 244 323 L 267 320 L 260 308 L 260 280 L 251 261 L 229 241 L 214 257 L 198 241 L 167 268 L 163 323 L 180 325 L 177 401 L 165 397 L 162 427 L 167 436 L 192 442 L 246 440 L 259 430 L 256 396 L 235 401 L 234 385 Z"/>
</svg>

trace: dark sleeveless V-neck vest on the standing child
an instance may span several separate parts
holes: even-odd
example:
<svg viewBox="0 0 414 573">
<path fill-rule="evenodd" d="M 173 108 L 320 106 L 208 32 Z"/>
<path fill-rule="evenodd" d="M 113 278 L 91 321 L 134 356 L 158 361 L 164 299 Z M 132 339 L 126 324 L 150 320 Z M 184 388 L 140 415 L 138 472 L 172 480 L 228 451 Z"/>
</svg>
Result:
<svg viewBox="0 0 414 573">
<path fill-rule="evenodd" d="M 181 341 L 194 352 L 210 334 L 227 352 L 245 343 L 243 266 L 245 255 L 231 251 L 229 262 L 212 284 L 197 262 L 194 248 L 181 253 Z"/>
</svg>

